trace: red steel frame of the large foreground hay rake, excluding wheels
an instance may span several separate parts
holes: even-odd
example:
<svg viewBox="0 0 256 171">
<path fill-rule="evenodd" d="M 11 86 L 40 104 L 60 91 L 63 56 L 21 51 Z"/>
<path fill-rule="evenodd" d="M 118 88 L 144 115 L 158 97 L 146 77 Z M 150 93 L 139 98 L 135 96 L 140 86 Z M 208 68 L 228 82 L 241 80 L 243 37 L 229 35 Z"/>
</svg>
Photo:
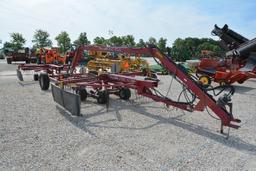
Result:
<svg viewBox="0 0 256 171">
<path fill-rule="evenodd" d="M 124 54 L 147 54 L 157 58 L 161 64 L 169 72 L 174 73 L 176 77 L 191 91 L 193 92 L 199 101 L 197 104 L 188 104 L 182 102 L 176 102 L 171 99 L 164 98 L 152 93 L 152 89 L 158 86 L 157 81 L 152 80 L 140 80 L 134 75 L 136 74 L 102 74 L 100 76 L 91 76 L 90 74 L 75 74 L 74 69 L 78 64 L 78 61 L 83 56 L 84 50 L 102 51 L 102 52 L 117 52 Z M 30 67 L 31 66 L 31 67 Z M 113 90 L 115 88 L 132 88 L 137 91 L 138 94 L 146 96 L 157 102 L 163 102 L 166 105 L 171 105 L 186 111 L 203 111 L 206 107 L 209 107 L 221 120 L 221 125 L 232 128 L 239 128 L 238 125 L 232 122 L 240 123 L 239 119 L 235 119 L 232 113 L 229 113 L 225 108 L 217 104 L 217 101 L 212 98 L 202 87 L 194 81 L 187 73 L 180 69 L 168 56 L 162 53 L 156 47 L 145 48 L 127 48 L 127 47 L 104 47 L 104 46 L 80 46 L 76 49 L 73 62 L 71 64 L 70 76 L 64 78 L 61 71 L 68 70 L 68 66 L 57 65 L 22 65 L 19 66 L 22 70 L 44 70 L 49 74 L 50 79 L 56 84 L 70 85 L 75 84 L 76 87 L 85 88 L 92 87 L 94 89 L 108 89 Z M 55 72 L 54 72 L 55 71 Z M 54 74 L 55 73 L 55 74 Z M 222 128 L 221 127 L 221 128 Z"/>
</svg>

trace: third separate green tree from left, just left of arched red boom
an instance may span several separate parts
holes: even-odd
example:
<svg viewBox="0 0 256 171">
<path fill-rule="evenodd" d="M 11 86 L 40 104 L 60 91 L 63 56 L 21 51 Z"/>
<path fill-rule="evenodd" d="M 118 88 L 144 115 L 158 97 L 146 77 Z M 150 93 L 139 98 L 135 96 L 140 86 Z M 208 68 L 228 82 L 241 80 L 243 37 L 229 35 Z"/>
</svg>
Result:
<svg viewBox="0 0 256 171">
<path fill-rule="evenodd" d="M 55 40 L 58 43 L 58 46 L 60 47 L 60 50 L 62 53 L 66 53 L 71 48 L 71 39 L 69 38 L 69 35 L 67 32 L 62 31 Z"/>
</svg>

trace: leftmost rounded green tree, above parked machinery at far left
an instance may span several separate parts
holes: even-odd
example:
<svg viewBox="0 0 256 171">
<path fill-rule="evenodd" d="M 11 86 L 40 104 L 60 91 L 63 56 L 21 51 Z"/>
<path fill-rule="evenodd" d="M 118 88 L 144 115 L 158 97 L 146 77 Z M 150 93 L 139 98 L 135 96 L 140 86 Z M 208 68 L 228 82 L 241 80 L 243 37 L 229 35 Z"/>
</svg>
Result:
<svg viewBox="0 0 256 171">
<path fill-rule="evenodd" d="M 23 35 L 20 33 L 11 33 L 11 41 L 4 43 L 4 49 L 10 48 L 13 50 L 19 50 L 24 47 L 26 40 L 23 38 Z"/>
</svg>

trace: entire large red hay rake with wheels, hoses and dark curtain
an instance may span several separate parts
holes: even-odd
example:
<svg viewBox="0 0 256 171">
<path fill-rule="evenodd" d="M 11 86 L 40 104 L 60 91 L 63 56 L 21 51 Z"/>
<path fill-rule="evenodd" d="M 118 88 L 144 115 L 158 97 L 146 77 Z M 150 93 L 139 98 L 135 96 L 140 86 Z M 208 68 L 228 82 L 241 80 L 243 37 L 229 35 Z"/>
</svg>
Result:
<svg viewBox="0 0 256 171">
<path fill-rule="evenodd" d="M 85 50 L 152 56 L 172 73 L 173 78 L 183 87 L 181 93 L 185 93 L 186 97 L 189 96 L 190 98 L 185 98 L 184 101 L 175 101 L 163 95 L 157 90 L 159 80 L 139 76 L 143 75 L 141 72 L 104 73 L 101 75 L 76 73 L 75 68 Z M 52 82 L 51 89 L 54 101 L 73 115 L 81 115 L 81 101 L 88 97 L 95 98 L 99 104 L 108 106 L 110 95 L 117 95 L 120 99 L 129 100 L 131 89 L 133 89 L 138 95 L 185 111 L 204 111 L 205 109 L 208 111 L 207 108 L 209 108 L 221 121 L 221 133 L 223 133 L 223 126 L 237 129 L 239 126 L 236 123 L 241 122 L 239 119 L 235 119 L 232 113 L 231 96 L 234 94 L 232 86 L 204 88 L 196 78 L 184 72 L 170 57 L 153 45 L 145 48 L 80 46 L 76 49 L 70 66 L 23 64 L 17 70 L 21 80 L 23 80 L 22 70 L 40 71 L 39 84 L 41 88 L 47 90 L 49 82 Z M 225 93 L 223 94 L 224 90 Z M 220 92 L 216 93 L 217 91 Z"/>
</svg>

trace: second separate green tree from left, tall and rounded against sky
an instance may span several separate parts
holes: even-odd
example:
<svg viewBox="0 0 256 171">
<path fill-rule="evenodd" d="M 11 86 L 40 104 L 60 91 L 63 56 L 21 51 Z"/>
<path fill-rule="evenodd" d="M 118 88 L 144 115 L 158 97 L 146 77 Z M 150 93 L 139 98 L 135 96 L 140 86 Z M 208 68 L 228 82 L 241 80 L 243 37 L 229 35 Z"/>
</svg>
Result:
<svg viewBox="0 0 256 171">
<path fill-rule="evenodd" d="M 50 35 L 47 31 L 36 30 L 32 42 L 35 43 L 35 48 L 51 47 L 52 41 L 49 39 Z"/>
</svg>

